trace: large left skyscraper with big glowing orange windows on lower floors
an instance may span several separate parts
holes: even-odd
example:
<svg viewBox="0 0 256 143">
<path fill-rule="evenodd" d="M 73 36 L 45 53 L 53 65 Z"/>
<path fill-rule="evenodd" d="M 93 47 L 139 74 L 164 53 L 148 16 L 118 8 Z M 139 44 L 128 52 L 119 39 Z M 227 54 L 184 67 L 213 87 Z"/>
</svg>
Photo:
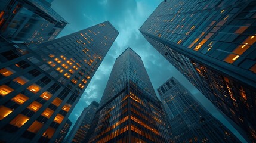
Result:
<svg viewBox="0 0 256 143">
<path fill-rule="evenodd" d="M 117 35 L 106 21 L 33 50 L 1 38 L 0 140 L 54 142 Z"/>
</svg>

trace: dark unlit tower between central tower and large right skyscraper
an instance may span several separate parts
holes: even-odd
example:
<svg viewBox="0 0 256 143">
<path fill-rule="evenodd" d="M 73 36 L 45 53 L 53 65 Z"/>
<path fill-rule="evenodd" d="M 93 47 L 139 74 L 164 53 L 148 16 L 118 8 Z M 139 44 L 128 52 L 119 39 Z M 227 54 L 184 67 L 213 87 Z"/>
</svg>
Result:
<svg viewBox="0 0 256 143">
<path fill-rule="evenodd" d="M 240 142 L 174 77 L 161 85 L 158 92 L 175 142 Z"/>
</svg>

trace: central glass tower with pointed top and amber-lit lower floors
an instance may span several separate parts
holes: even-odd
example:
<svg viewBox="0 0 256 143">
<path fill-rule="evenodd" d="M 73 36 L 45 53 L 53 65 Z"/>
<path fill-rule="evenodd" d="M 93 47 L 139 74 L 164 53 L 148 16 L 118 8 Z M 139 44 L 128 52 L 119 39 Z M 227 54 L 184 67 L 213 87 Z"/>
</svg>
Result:
<svg viewBox="0 0 256 143">
<path fill-rule="evenodd" d="M 147 71 L 131 48 L 116 58 L 85 142 L 169 142 Z"/>
</svg>

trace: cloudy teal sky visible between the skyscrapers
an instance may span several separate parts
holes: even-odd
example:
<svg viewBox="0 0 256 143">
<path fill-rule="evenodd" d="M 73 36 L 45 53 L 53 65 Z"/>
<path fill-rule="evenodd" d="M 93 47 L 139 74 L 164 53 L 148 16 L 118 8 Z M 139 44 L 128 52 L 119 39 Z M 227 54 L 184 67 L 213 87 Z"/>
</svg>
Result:
<svg viewBox="0 0 256 143">
<path fill-rule="evenodd" d="M 201 94 L 175 67 L 172 66 L 141 35 L 140 26 L 160 4 L 160 0 L 54 0 L 52 8 L 69 22 L 58 37 L 86 29 L 103 21 L 110 21 L 119 35 L 85 89 L 78 104 L 69 116 L 73 125 L 93 100 L 100 102 L 115 59 L 129 46 L 143 60 L 153 88 L 156 89 L 174 76 L 214 117 L 245 142 L 213 104 Z M 72 127 L 71 127 L 72 128 Z"/>
</svg>

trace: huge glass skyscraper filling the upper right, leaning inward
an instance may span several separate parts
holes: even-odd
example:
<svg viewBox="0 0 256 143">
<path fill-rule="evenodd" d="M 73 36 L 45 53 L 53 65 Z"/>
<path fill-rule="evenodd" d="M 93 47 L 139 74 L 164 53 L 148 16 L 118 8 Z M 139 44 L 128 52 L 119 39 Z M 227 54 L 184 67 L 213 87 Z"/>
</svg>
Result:
<svg viewBox="0 0 256 143">
<path fill-rule="evenodd" d="M 256 140 L 255 1 L 164 1 L 140 32 Z"/>
</svg>

